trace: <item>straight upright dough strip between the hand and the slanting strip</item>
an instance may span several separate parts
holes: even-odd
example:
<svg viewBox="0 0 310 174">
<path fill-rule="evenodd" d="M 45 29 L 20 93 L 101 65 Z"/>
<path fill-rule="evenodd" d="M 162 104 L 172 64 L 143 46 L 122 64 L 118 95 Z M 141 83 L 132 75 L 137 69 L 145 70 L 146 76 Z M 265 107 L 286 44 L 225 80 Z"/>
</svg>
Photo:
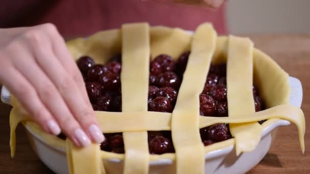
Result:
<svg viewBox="0 0 310 174">
<path fill-rule="evenodd" d="M 149 57 L 148 24 L 122 25 L 122 112 L 147 111 Z M 123 132 L 123 139 L 124 173 L 148 173 L 147 131 Z"/>
</svg>

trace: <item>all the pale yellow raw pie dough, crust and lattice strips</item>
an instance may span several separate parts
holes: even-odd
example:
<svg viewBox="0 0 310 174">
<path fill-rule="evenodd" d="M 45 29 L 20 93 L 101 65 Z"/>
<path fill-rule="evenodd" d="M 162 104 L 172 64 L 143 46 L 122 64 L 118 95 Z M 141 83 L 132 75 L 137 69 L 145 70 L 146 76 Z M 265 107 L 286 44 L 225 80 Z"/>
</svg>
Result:
<svg viewBox="0 0 310 174">
<path fill-rule="evenodd" d="M 75 60 L 90 55 L 98 64 L 122 53 L 122 112 L 95 113 L 102 131 L 123 132 L 125 154 L 100 151 L 98 144 L 77 148 L 68 139 L 61 140 L 45 133 L 12 96 L 12 157 L 19 122 L 42 137 L 49 146 L 66 148 L 70 173 L 78 174 L 105 173 L 105 168 L 111 166 L 102 161 L 108 159 L 123 160 L 124 173 L 148 173 L 149 161 L 161 159 L 175 160 L 177 173 L 203 173 L 206 153 L 233 145 L 238 154 L 251 151 L 260 140 L 262 130 L 279 119 L 296 124 L 300 148 L 304 152 L 304 115 L 300 108 L 289 105 L 288 74 L 268 55 L 253 48 L 248 39 L 217 37 L 208 23 L 201 24 L 193 36 L 179 28 L 133 23 L 122 25 L 121 30 L 98 32 L 87 39 L 76 38 L 67 42 L 67 47 Z M 156 57 L 165 53 L 176 60 L 185 51 L 191 51 L 191 54 L 173 113 L 147 111 L 149 55 Z M 199 94 L 211 62 L 227 62 L 229 117 L 199 116 Z M 254 112 L 253 96 L 250 95 L 252 83 L 259 88 L 268 109 Z M 257 124 L 265 119 L 269 120 Z M 236 138 L 203 147 L 199 128 L 216 123 L 232 125 L 230 130 Z M 149 155 L 146 131 L 157 130 L 172 130 L 176 153 Z M 249 133 L 255 136 L 248 137 Z"/>
</svg>

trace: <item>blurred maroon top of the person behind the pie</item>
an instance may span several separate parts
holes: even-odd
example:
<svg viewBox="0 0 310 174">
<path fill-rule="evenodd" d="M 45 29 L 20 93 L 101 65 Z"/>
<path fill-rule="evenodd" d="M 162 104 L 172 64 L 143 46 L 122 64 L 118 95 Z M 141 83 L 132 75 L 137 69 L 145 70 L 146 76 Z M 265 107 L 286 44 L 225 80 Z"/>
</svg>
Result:
<svg viewBox="0 0 310 174">
<path fill-rule="evenodd" d="M 152 0 L 66 0 L 4 1 L 0 6 L 0 27 L 54 23 L 64 36 L 90 35 L 120 27 L 126 22 L 195 30 L 212 22 L 219 34 L 226 34 L 225 3 L 217 10 Z"/>
</svg>

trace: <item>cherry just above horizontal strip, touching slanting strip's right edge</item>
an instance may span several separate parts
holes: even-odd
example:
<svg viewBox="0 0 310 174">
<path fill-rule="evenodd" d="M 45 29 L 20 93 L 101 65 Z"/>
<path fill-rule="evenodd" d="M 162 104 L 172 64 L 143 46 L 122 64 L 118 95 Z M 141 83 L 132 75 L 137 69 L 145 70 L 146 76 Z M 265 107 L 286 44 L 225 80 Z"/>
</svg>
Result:
<svg viewBox="0 0 310 174">
<path fill-rule="evenodd" d="M 206 94 L 200 94 L 199 96 L 200 108 L 203 116 L 212 116 L 215 113 L 214 99 Z"/>
</svg>

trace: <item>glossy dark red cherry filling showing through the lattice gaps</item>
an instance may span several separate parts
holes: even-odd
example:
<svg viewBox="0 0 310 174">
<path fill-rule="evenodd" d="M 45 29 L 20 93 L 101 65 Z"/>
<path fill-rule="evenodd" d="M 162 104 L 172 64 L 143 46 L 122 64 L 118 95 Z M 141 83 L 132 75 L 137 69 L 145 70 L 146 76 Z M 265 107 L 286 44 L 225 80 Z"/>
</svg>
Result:
<svg viewBox="0 0 310 174">
<path fill-rule="evenodd" d="M 190 52 L 185 52 L 174 61 L 171 56 L 161 54 L 150 62 L 148 110 L 172 112 L 178 90 L 182 83 Z M 76 61 L 86 84 L 89 100 L 95 111 L 121 112 L 121 54 L 110 59 L 107 65 L 95 64 L 90 56 Z M 265 109 L 259 91 L 253 86 L 255 111 Z M 211 65 L 199 96 L 200 115 L 228 117 L 226 65 Z M 259 121 L 260 124 L 265 120 Z M 204 146 L 231 138 L 226 123 L 214 124 L 199 130 Z M 106 139 L 100 144 L 103 151 L 124 153 L 122 133 L 104 133 Z M 65 139 L 64 134 L 59 138 Z M 150 154 L 174 153 L 171 131 L 148 131 Z"/>
</svg>

